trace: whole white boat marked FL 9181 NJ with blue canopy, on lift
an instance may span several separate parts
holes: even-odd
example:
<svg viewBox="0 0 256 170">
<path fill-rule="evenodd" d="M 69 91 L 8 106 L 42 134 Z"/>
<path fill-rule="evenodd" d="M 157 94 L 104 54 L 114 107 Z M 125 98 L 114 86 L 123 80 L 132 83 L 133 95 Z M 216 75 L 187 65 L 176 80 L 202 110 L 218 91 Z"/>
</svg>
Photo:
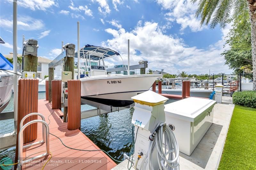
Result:
<svg viewBox="0 0 256 170">
<path fill-rule="evenodd" d="M 120 54 L 109 48 L 85 45 L 80 49 L 80 58 L 86 65 L 85 77 L 80 79 L 81 98 L 108 106 L 126 107 L 134 103 L 132 96 L 148 91 L 156 79 L 162 77 L 159 74 L 108 74 L 104 61 L 114 56 Z M 92 61 L 99 64 L 91 65 Z"/>
</svg>

